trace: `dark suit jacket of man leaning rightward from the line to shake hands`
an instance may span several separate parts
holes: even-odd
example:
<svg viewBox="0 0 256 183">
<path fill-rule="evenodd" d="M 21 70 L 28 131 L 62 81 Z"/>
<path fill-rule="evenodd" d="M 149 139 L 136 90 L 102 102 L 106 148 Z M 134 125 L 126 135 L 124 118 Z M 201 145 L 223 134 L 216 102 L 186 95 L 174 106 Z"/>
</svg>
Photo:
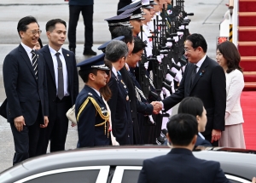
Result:
<svg viewBox="0 0 256 183">
<path fill-rule="evenodd" d="M 122 77 L 127 85 L 129 90 L 129 98 L 131 105 L 131 115 L 133 122 L 133 131 L 134 131 L 134 143 L 143 144 L 143 134 L 141 133 L 142 129 L 140 128 L 140 122 L 138 121 L 137 112 L 149 115 L 153 113 L 153 106 L 151 104 L 137 100 L 135 92 L 135 81 L 136 79 L 131 77 L 131 73 L 127 71 L 125 66 L 120 70 Z"/>
</svg>

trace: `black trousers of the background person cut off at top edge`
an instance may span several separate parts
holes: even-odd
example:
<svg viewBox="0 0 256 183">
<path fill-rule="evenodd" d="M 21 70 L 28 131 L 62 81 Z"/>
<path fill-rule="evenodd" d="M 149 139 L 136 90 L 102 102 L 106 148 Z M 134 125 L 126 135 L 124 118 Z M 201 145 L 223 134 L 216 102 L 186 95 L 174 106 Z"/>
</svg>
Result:
<svg viewBox="0 0 256 183">
<path fill-rule="evenodd" d="M 76 48 L 76 32 L 80 12 L 82 12 L 84 19 L 84 49 L 90 49 L 93 43 L 93 5 L 69 5 L 69 26 L 67 32 L 69 48 Z"/>
</svg>

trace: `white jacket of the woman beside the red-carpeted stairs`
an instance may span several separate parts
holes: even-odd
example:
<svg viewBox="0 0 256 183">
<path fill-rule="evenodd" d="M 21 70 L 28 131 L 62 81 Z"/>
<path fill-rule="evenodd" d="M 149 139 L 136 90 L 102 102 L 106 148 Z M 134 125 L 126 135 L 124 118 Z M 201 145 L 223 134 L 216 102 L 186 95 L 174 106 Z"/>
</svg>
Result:
<svg viewBox="0 0 256 183">
<path fill-rule="evenodd" d="M 241 71 L 236 69 L 230 73 L 226 73 L 226 84 L 227 103 L 225 125 L 243 123 L 240 96 L 244 87 L 244 81 Z"/>
</svg>

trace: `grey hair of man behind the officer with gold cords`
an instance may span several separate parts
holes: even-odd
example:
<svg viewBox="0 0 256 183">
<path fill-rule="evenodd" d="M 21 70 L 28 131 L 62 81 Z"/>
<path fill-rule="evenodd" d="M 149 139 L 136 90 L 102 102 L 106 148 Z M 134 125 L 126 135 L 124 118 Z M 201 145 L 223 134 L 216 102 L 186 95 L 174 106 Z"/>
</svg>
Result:
<svg viewBox="0 0 256 183">
<path fill-rule="evenodd" d="M 111 62 L 117 62 L 122 57 L 126 58 L 127 55 L 128 47 L 127 44 L 125 44 L 125 42 L 119 40 L 112 40 L 110 43 L 108 43 L 105 52 L 106 60 L 109 60 Z"/>
</svg>

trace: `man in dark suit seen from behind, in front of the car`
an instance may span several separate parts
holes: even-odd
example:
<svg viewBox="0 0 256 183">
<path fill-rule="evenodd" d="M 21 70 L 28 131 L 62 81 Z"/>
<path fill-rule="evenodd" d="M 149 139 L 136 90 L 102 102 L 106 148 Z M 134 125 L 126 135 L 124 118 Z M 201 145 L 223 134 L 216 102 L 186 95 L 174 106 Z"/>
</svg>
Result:
<svg viewBox="0 0 256 183">
<path fill-rule="evenodd" d="M 167 130 L 167 139 L 173 146 L 171 152 L 144 160 L 138 183 L 230 182 L 218 162 L 194 157 L 192 150 L 198 134 L 198 123 L 194 116 L 173 116 L 167 123 Z"/>
</svg>

